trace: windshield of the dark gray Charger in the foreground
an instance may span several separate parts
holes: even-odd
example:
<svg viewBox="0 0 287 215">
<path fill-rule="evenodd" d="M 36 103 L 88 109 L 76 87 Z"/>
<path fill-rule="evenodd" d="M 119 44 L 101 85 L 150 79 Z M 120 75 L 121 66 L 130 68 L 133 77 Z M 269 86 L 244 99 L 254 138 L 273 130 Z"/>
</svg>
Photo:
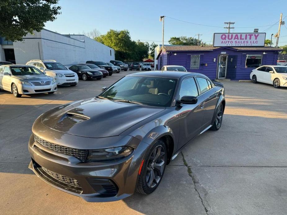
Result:
<svg viewBox="0 0 287 215">
<path fill-rule="evenodd" d="M 177 79 L 163 77 L 126 76 L 110 86 L 100 98 L 170 107 Z"/>
</svg>

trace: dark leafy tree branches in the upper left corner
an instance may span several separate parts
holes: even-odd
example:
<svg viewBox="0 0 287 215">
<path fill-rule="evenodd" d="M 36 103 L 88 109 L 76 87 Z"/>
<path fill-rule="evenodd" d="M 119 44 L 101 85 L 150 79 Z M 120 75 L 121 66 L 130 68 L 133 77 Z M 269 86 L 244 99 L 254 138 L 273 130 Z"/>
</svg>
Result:
<svg viewBox="0 0 287 215">
<path fill-rule="evenodd" d="M 41 31 L 45 22 L 60 14 L 59 0 L 1 0 L 0 35 L 8 41 L 22 41 L 23 36 Z"/>
</svg>

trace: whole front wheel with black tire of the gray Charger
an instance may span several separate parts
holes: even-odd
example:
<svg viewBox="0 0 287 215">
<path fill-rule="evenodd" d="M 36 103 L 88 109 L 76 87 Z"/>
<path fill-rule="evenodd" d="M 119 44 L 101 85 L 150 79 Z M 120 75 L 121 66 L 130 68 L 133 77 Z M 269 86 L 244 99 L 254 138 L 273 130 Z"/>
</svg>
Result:
<svg viewBox="0 0 287 215">
<path fill-rule="evenodd" d="M 159 156 L 155 159 L 157 153 L 159 153 Z M 166 162 L 166 146 L 164 141 L 159 139 L 143 160 L 141 172 L 137 181 L 137 192 L 146 195 L 155 191 L 163 178 Z"/>
</svg>

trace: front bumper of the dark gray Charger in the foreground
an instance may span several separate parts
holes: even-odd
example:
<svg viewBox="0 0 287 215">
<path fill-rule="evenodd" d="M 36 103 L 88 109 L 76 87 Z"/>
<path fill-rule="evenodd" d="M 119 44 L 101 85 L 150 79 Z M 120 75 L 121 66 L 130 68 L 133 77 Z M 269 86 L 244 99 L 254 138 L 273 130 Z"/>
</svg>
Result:
<svg viewBox="0 0 287 215">
<path fill-rule="evenodd" d="M 49 128 L 43 124 L 38 125 L 39 123 L 37 123 L 37 130 L 39 130 L 39 132 L 36 135 L 41 137 L 41 134 L 43 135 L 43 132 L 47 132 Z M 44 129 L 44 131 L 41 129 Z M 35 129 L 33 128 L 33 130 Z M 51 132 L 51 129 L 49 130 Z M 35 133 L 35 131 L 33 132 Z M 126 145 L 134 147 L 135 150 L 128 157 L 117 160 L 81 162 L 74 156 L 62 154 L 43 146 L 34 140 L 32 134 L 29 139 L 29 153 L 31 156 L 29 169 L 32 169 L 43 181 L 61 191 L 79 196 L 89 202 L 116 201 L 134 193 L 139 167 L 144 154 L 149 147 L 147 143 L 140 142 L 138 139 L 131 136 L 84 138 L 55 131 L 51 134 L 53 134 L 52 137 L 49 135 L 48 138 L 50 139 L 47 141 L 52 142 L 52 139 L 54 139 L 52 142 L 54 144 L 58 144 L 57 142 L 59 139 L 57 140 L 57 138 L 59 137 L 61 137 L 63 143 L 66 143 L 69 138 L 73 138 L 74 143 L 87 143 L 93 139 L 92 141 L 97 142 L 98 147 L 101 145 L 102 141 L 99 139 L 105 139 L 103 141 L 105 144 L 111 139 L 117 139 L 115 144 L 124 141 L 126 142 Z M 69 141 L 71 141 L 71 139 Z M 81 144 L 82 147 L 85 147 L 85 145 L 86 144 Z M 68 178 L 68 180 L 64 180 L 63 178 Z M 67 183 L 67 181 L 69 183 Z M 104 185 L 99 181 L 103 181 Z M 103 187 L 106 186 L 107 183 L 114 185 L 113 187 L 116 190 L 114 194 L 103 193 Z M 110 188 L 107 189 L 110 190 Z"/>
</svg>

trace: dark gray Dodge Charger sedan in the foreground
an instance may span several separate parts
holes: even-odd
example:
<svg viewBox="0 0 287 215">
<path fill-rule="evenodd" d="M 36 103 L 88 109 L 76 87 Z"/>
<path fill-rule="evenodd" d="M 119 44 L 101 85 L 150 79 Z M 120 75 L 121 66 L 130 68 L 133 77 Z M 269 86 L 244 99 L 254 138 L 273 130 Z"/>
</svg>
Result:
<svg viewBox="0 0 287 215">
<path fill-rule="evenodd" d="M 86 201 L 153 192 L 182 147 L 222 124 L 224 87 L 199 73 L 139 72 L 102 90 L 39 116 L 29 139 L 29 168 Z"/>
</svg>

